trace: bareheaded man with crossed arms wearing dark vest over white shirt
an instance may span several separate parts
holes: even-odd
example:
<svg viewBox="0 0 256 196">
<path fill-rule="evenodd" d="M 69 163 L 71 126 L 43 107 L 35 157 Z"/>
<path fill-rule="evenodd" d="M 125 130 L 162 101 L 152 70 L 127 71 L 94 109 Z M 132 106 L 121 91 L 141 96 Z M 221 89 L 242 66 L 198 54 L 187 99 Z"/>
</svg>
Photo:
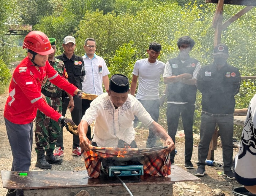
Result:
<svg viewBox="0 0 256 196">
<path fill-rule="evenodd" d="M 189 57 L 189 52 L 195 45 L 195 41 L 189 36 L 178 39 L 180 51 L 176 58 L 167 61 L 163 74 L 167 88 L 167 126 L 168 134 L 175 143 L 175 135 L 178 128 L 179 117 L 185 134 L 185 168 L 193 169 L 191 162 L 193 152 L 193 117 L 195 112 L 196 91 L 195 86 L 200 62 Z M 174 164 L 175 151 L 171 152 L 171 163 Z"/>
</svg>

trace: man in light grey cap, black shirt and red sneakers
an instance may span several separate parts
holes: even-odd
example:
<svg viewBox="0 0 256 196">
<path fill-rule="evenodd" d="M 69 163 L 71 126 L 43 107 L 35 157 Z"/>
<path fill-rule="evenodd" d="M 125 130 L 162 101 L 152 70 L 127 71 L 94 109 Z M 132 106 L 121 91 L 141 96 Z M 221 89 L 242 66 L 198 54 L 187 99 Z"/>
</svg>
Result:
<svg viewBox="0 0 256 196">
<path fill-rule="evenodd" d="M 85 66 L 83 58 L 75 55 L 75 38 L 72 36 L 66 36 L 62 44 L 64 48 L 63 54 L 56 56 L 56 58 L 64 62 L 67 74 L 69 76 L 68 81 L 75 85 L 79 90 L 82 90 L 82 82 L 85 78 Z M 82 116 L 82 100 L 75 95 L 73 97 L 74 102 L 68 98 L 66 95 L 65 101 L 63 101 L 62 106 L 62 115 L 65 116 L 67 108 L 70 108 L 74 105 L 74 109 L 71 111 L 71 116 L 75 124 L 79 124 Z M 64 155 L 63 147 L 63 131 L 57 140 L 56 151 L 54 155 L 60 157 Z M 72 155 L 81 157 L 81 149 L 79 147 L 79 138 L 76 135 L 73 135 L 73 150 Z"/>
</svg>

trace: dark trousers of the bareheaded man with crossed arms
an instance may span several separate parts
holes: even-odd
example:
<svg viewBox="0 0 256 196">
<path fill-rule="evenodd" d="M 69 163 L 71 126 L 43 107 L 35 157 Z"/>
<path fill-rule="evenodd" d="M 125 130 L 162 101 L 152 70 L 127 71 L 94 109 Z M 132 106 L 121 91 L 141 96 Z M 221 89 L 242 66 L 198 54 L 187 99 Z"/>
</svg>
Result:
<svg viewBox="0 0 256 196">
<path fill-rule="evenodd" d="M 177 133 L 177 128 L 179 124 L 179 117 L 181 115 L 182 124 L 185 134 L 185 161 L 191 160 L 193 152 L 193 118 L 195 112 L 194 103 L 184 103 L 184 104 L 167 104 L 167 126 L 168 134 L 173 139 L 175 144 L 175 135 Z M 175 150 L 170 154 L 171 162 L 173 162 L 175 157 Z"/>
</svg>

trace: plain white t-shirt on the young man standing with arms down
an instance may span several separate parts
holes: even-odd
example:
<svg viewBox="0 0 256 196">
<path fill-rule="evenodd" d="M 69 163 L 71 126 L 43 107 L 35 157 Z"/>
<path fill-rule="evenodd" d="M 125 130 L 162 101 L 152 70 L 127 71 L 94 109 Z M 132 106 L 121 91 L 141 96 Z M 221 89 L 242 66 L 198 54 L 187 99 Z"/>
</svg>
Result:
<svg viewBox="0 0 256 196">
<path fill-rule="evenodd" d="M 159 82 L 163 74 L 165 63 L 157 60 L 149 63 L 148 58 L 137 60 L 132 74 L 138 76 L 139 85 L 136 94 L 137 99 L 159 99 Z"/>
</svg>

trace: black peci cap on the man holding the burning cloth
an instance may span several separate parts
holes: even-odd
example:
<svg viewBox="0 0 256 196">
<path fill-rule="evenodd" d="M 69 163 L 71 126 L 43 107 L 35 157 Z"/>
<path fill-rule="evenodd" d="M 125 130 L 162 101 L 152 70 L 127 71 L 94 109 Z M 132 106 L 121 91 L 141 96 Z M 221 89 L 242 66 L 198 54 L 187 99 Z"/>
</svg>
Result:
<svg viewBox="0 0 256 196">
<path fill-rule="evenodd" d="M 129 79 L 123 74 L 114 74 L 109 81 L 109 90 L 116 93 L 126 93 L 129 91 Z"/>
</svg>

